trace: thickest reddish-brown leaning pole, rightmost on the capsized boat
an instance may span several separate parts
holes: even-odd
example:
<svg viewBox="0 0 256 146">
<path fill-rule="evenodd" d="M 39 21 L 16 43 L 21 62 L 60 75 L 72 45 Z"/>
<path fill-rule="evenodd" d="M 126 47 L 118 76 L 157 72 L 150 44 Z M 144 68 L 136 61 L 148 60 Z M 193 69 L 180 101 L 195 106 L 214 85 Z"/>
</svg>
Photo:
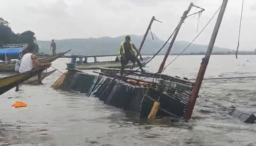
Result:
<svg viewBox="0 0 256 146">
<path fill-rule="evenodd" d="M 200 90 L 200 87 L 201 87 L 201 84 L 202 84 L 202 81 L 204 78 L 204 73 L 206 72 L 206 68 L 207 68 L 207 65 L 208 65 L 208 62 L 209 62 L 209 59 L 211 56 L 212 48 L 214 46 L 218 31 L 219 31 L 219 27 L 221 26 L 221 21 L 222 21 L 222 18 L 223 18 L 223 15 L 224 15 L 224 12 L 225 12 L 225 9 L 227 6 L 227 1 L 228 0 L 223 0 L 223 2 L 222 2 L 222 7 L 221 7 L 221 10 L 219 11 L 219 16 L 218 16 L 217 22 L 215 24 L 214 30 L 212 32 L 211 40 L 210 40 L 206 55 L 202 59 L 201 66 L 200 66 L 199 72 L 197 74 L 196 82 L 195 82 L 194 88 L 192 90 L 191 96 L 188 101 L 188 107 L 187 107 L 187 110 L 184 115 L 185 120 L 189 120 L 191 118 L 193 109 L 195 107 L 196 99 L 197 99 L 197 96 L 198 96 L 198 93 L 199 93 L 199 90 Z"/>
</svg>

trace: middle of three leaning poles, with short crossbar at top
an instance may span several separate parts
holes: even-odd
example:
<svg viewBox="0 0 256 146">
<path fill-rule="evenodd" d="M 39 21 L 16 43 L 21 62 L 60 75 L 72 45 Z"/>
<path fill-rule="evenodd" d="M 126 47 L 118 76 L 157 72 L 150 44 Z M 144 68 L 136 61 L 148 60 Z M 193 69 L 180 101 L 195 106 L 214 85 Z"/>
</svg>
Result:
<svg viewBox="0 0 256 146">
<path fill-rule="evenodd" d="M 185 11 L 185 12 L 183 13 L 183 15 L 182 15 L 182 17 L 181 17 L 181 19 L 180 19 L 180 23 L 179 23 L 178 26 L 177 26 L 177 30 L 175 31 L 175 33 L 174 33 L 174 35 L 173 35 L 173 38 L 172 38 L 172 41 L 170 42 L 170 45 L 169 45 L 169 47 L 168 47 L 168 50 L 166 51 L 165 57 L 163 58 L 163 61 L 162 61 L 161 65 L 160 65 L 160 67 L 159 67 L 159 69 L 158 69 L 158 72 L 159 72 L 159 73 L 162 72 L 163 67 L 165 66 L 166 59 L 167 59 L 167 57 L 168 57 L 168 55 L 169 55 L 169 53 L 170 53 L 170 51 L 171 51 L 171 49 L 172 49 L 172 47 L 173 47 L 174 41 L 175 41 L 175 39 L 176 39 L 176 37 L 177 37 L 177 35 L 178 35 L 178 32 L 179 32 L 179 30 L 180 30 L 181 24 L 182 24 L 182 23 L 184 22 L 184 20 L 187 18 L 187 15 L 188 15 L 188 13 L 189 13 L 189 11 L 191 10 L 192 7 L 193 7 L 193 3 L 190 3 L 190 5 L 189 5 L 187 11 Z"/>
</svg>

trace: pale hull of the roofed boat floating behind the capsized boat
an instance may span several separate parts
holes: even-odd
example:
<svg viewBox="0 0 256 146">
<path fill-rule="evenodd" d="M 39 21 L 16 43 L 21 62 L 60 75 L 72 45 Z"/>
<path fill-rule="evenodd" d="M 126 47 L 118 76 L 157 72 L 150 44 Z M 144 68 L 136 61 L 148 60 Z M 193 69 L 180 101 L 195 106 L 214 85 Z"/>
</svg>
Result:
<svg viewBox="0 0 256 146">
<path fill-rule="evenodd" d="M 145 57 L 143 58 L 142 64 L 144 65 L 148 60 L 150 60 L 151 57 Z M 129 61 L 129 63 L 125 66 L 125 68 L 131 68 L 132 62 Z M 137 62 L 135 63 L 135 67 L 138 67 L 139 65 Z M 121 68 L 120 62 L 116 61 L 107 61 L 107 62 L 92 62 L 87 64 L 67 64 L 68 69 L 76 68 L 76 69 L 99 69 L 99 68 Z"/>
</svg>

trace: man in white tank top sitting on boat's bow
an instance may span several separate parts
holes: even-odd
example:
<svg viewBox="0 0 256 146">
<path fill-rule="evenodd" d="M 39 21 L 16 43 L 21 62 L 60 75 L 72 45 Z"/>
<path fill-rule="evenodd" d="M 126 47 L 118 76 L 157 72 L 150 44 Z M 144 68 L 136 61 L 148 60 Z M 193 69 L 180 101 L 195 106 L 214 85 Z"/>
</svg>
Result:
<svg viewBox="0 0 256 146">
<path fill-rule="evenodd" d="M 28 49 L 29 53 L 23 55 L 22 61 L 20 62 L 19 73 L 25 73 L 25 72 L 29 72 L 34 69 L 45 68 L 45 67 L 49 67 L 52 65 L 51 63 L 46 63 L 46 64 L 39 63 L 37 60 L 37 57 L 34 54 L 35 52 L 34 52 L 33 46 L 29 46 L 29 47 L 27 47 L 27 49 Z M 43 84 L 41 82 L 41 73 L 38 74 L 38 83 L 39 84 Z M 19 89 L 17 89 L 17 87 L 16 87 L 15 91 L 19 91 Z"/>
</svg>

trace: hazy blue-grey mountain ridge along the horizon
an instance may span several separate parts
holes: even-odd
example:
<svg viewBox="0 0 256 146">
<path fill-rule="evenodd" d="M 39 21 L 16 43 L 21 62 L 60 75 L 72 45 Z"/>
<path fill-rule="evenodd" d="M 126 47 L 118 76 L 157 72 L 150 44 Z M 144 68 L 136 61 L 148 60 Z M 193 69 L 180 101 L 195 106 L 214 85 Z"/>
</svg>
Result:
<svg viewBox="0 0 256 146">
<path fill-rule="evenodd" d="M 155 54 L 165 43 L 157 36 L 154 36 L 154 40 L 150 35 L 144 43 L 142 54 L 153 55 Z M 57 53 L 63 52 L 68 49 L 72 49 L 70 54 L 83 54 L 83 55 L 113 55 L 118 53 L 120 43 L 124 41 L 125 35 L 116 38 L 101 37 L 101 38 L 87 38 L 87 39 L 62 39 L 55 40 L 57 46 Z M 143 36 L 131 35 L 132 43 L 139 49 L 140 43 Z M 50 42 L 51 41 L 37 41 L 39 45 L 39 52 L 49 54 L 50 53 Z M 189 45 L 186 41 L 176 41 L 173 45 L 170 54 L 179 54 Z M 159 53 L 165 54 L 169 43 Z M 192 44 L 183 54 L 203 54 L 207 50 L 207 45 Z M 213 52 L 234 52 L 234 50 L 214 47 Z"/>
</svg>

